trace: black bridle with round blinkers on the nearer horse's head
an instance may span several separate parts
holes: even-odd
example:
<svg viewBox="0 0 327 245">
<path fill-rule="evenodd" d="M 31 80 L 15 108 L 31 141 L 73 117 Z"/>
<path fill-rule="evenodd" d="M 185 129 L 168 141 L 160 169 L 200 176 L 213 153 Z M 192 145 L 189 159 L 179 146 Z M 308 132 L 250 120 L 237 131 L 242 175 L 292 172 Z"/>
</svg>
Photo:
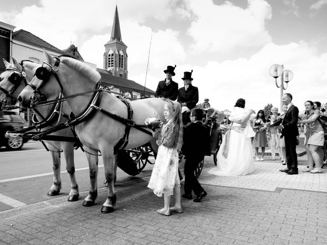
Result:
<svg viewBox="0 0 327 245">
<path fill-rule="evenodd" d="M 36 86 L 33 85 L 31 82 L 27 84 L 27 85 L 29 85 L 32 89 L 34 89 L 34 91 L 33 91 L 33 94 L 34 94 L 34 95 L 31 95 L 31 96 L 29 97 L 29 99 L 30 99 L 30 101 L 31 101 L 31 105 L 37 101 L 37 97 L 35 96 L 36 93 L 39 94 L 39 96 L 40 96 L 40 101 L 46 101 L 46 96 L 45 96 L 45 94 L 43 94 L 43 93 L 40 91 L 40 88 L 43 87 L 43 85 L 44 85 L 46 82 L 49 81 L 51 75 L 54 75 L 54 76 L 55 76 L 55 78 L 56 78 L 56 80 L 57 80 L 57 82 L 58 82 L 58 84 L 59 84 L 59 86 L 60 86 L 61 93 L 62 93 L 62 91 L 63 91 L 62 84 L 61 84 L 61 82 L 60 82 L 60 80 L 59 80 L 59 77 L 58 77 L 58 75 L 57 75 L 58 66 L 59 66 L 59 64 L 60 64 L 60 60 L 59 60 L 59 58 L 56 57 L 56 62 L 55 62 L 54 65 L 50 64 L 48 61 L 43 61 L 43 64 L 46 64 L 46 65 L 50 66 L 51 69 L 50 69 L 50 70 L 47 70 L 45 67 L 43 67 L 43 65 L 42 65 L 41 67 L 39 67 L 39 68 L 36 69 L 34 76 L 35 76 L 37 79 L 42 80 L 42 82 L 39 84 L 39 86 L 36 87 Z"/>
</svg>

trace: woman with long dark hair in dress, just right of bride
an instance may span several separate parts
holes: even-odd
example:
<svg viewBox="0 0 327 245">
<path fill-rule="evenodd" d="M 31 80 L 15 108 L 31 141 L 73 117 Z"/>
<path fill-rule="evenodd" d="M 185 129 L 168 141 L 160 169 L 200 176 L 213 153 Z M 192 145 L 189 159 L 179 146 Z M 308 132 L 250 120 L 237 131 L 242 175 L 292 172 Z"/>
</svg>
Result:
<svg viewBox="0 0 327 245">
<path fill-rule="evenodd" d="M 265 149 L 267 145 L 266 138 L 266 117 L 265 112 L 263 110 L 259 110 L 258 114 L 256 114 L 256 118 L 253 120 L 253 130 L 255 132 L 252 145 L 255 149 L 255 158 L 257 161 L 263 161 L 265 155 Z M 261 147 L 261 158 L 259 158 L 259 147 Z"/>
</svg>

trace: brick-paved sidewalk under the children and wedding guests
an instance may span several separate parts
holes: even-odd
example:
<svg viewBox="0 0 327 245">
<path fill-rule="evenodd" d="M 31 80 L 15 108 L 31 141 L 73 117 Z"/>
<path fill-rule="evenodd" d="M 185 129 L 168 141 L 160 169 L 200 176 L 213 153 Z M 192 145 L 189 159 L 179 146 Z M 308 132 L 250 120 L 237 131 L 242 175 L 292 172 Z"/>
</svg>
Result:
<svg viewBox="0 0 327 245">
<path fill-rule="evenodd" d="M 62 197 L 4 211 L 0 244 L 326 244 L 327 170 L 289 176 L 268 159 L 255 161 L 252 175 L 217 177 L 207 174 L 214 164 L 206 157 L 199 181 L 207 197 L 183 199 L 184 212 L 169 217 L 156 213 L 164 200 L 148 178 L 117 185 L 110 214 L 100 212 L 105 188 L 93 207 L 82 207 L 81 193 L 75 203 Z"/>
</svg>

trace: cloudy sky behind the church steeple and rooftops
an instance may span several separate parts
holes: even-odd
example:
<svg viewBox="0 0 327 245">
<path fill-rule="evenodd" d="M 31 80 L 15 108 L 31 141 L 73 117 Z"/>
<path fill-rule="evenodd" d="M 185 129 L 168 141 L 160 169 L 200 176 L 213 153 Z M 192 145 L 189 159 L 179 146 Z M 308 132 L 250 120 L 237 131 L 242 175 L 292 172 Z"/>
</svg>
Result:
<svg viewBox="0 0 327 245">
<path fill-rule="evenodd" d="M 225 110 L 242 97 L 258 111 L 280 107 L 281 89 L 269 75 L 280 64 L 293 72 L 284 93 L 300 111 L 307 100 L 327 103 L 327 0 L 11 0 L 0 21 L 61 50 L 73 43 L 103 68 L 116 5 L 130 80 L 155 90 L 176 65 L 179 87 L 193 70 L 200 102 Z"/>
</svg>

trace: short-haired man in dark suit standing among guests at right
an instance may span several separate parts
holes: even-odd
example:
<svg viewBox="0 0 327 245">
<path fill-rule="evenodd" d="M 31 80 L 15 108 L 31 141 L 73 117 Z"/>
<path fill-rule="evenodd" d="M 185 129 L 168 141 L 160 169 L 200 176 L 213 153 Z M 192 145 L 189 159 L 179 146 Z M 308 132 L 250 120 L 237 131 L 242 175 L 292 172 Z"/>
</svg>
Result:
<svg viewBox="0 0 327 245">
<path fill-rule="evenodd" d="M 277 126 L 282 129 L 282 135 L 285 139 L 285 149 L 287 158 L 287 168 L 279 171 L 289 175 L 297 175 L 297 155 L 296 155 L 296 137 L 298 136 L 297 121 L 298 109 L 292 104 L 293 96 L 290 93 L 283 95 L 283 104 L 287 105 L 287 109 L 282 121 L 282 125 Z"/>
</svg>

